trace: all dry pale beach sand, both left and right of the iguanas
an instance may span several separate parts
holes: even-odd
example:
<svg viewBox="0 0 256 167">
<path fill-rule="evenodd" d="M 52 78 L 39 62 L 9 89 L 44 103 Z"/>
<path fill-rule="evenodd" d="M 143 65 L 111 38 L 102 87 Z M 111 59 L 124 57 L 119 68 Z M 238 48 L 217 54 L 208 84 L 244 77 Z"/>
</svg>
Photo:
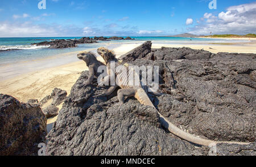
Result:
<svg viewBox="0 0 256 167">
<path fill-rule="evenodd" d="M 183 46 L 192 49 L 204 49 L 212 53 L 232 52 L 232 53 L 255 53 L 256 42 L 243 45 L 174 45 L 174 44 L 152 44 L 152 48 L 174 47 L 181 48 Z M 142 43 L 141 43 L 142 44 Z M 123 44 L 114 48 L 117 57 L 129 52 L 141 44 Z M 212 49 L 210 49 L 212 48 Z M 76 55 L 73 55 L 76 57 Z M 101 57 L 98 57 L 103 61 Z M 85 62 L 78 60 L 77 62 L 68 63 L 66 65 L 46 68 L 15 76 L 10 79 L 1 80 L 0 93 L 11 95 L 21 102 L 27 102 L 30 99 L 42 100 L 47 95 L 51 95 L 54 88 L 60 88 L 67 91 L 68 95 L 72 86 L 76 83 L 82 71 L 88 70 Z M 61 108 L 62 104 L 58 107 Z M 47 123 L 56 121 L 56 118 L 49 118 Z"/>
</svg>

